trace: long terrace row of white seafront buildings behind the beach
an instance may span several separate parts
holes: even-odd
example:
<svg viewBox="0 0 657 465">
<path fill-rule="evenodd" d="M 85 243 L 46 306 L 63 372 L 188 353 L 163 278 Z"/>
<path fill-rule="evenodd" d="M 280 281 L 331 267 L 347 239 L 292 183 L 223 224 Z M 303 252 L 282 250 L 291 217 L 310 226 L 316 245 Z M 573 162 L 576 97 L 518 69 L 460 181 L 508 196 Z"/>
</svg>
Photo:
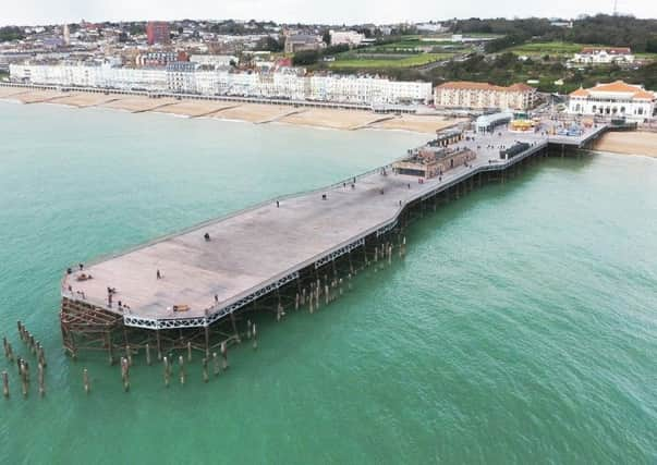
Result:
<svg viewBox="0 0 657 465">
<path fill-rule="evenodd" d="M 166 68 L 122 68 L 104 64 L 12 64 L 13 82 L 123 90 L 171 91 L 208 96 L 239 96 L 311 100 L 367 106 L 429 103 L 430 83 L 390 81 L 353 75 L 305 75 L 283 68 L 259 73 L 197 63 L 173 62 Z"/>
</svg>

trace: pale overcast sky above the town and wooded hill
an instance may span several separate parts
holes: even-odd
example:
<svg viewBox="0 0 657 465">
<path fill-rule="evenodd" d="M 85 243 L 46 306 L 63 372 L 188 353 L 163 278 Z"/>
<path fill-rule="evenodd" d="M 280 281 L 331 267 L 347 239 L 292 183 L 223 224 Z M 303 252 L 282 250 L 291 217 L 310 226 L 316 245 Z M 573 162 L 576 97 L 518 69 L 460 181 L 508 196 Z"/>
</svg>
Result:
<svg viewBox="0 0 657 465">
<path fill-rule="evenodd" d="M 68 8 L 28 0 L 20 4 L 3 7 L 0 26 L 7 25 L 46 25 L 74 23 L 81 19 L 92 22 L 104 21 L 146 21 L 151 19 L 177 21 L 223 20 L 275 21 L 279 23 L 304 24 L 398 24 L 417 21 L 440 21 L 466 17 L 561 17 L 575 19 L 582 15 L 599 13 L 631 14 L 636 17 L 650 19 L 657 16 L 657 4 L 644 0 L 617 0 L 598 2 L 584 0 L 571 4 L 527 3 L 520 0 L 504 0 L 495 4 L 488 2 L 469 2 L 451 4 L 434 4 L 428 0 L 414 0 L 411 3 L 386 4 L 373 10 L 365 4 L 336 3 L 307 5 L 299 1 L 260 2 L 231 0 L 216 5 L 206 0 L 180 2 L 155 2 L 142 0 L 132 2 L 130 7 L 115 4 L 88 3 L 82 0 L 70 0 Z"/>
</svg>

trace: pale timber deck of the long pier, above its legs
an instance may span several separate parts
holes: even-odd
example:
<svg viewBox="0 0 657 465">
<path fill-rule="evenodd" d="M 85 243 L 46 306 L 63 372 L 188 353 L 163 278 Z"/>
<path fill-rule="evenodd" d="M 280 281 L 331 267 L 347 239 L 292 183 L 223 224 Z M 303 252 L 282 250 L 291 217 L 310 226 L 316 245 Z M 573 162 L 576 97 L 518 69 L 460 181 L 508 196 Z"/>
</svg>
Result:
<svg viewBox="0 0 657 465">
<path fill-rule="evenodd" d="M 378 246 L 392 244 L 390 235 L 399 234 L 409 210 L 435 205 L 446 193 L 458 196 L 483 180 L 503 181 L 507 171 L 547 155 L 548 147 L 557 152 L 583 147 L 605 131 L 599 125 L 576 137 L 507 130 L 473 133 L 458 145 L 475 151 L 476 159 L 440 178 L 421 182 L 393 173 L 389 163 L 331 186 L 205 222 L 82 270 L 72 266 L 62 280 L 63 307 L 77 303 L 114 315 L 125 327 L 162 330 L 207 329 L 283 286 L 295 289 L 299 303 L 308 279 L 315 282 L 323 267 L 332 267 L 334 273 L 334 261 L 349 257 L 351 268 L 355 254 L 358 259 L 376 259 L 367 252 L 373 244 L 375 254 L 387 254 Z M 519 142 L 528 144 L 524 151 L 500 159 L 499 147 Z M 85 279 L 88 276 L 92 279 Z M 111 305 L 108 289 L 113 291 Z M 207 339 L 206 331 L 206 344 Z"/>
</svg>

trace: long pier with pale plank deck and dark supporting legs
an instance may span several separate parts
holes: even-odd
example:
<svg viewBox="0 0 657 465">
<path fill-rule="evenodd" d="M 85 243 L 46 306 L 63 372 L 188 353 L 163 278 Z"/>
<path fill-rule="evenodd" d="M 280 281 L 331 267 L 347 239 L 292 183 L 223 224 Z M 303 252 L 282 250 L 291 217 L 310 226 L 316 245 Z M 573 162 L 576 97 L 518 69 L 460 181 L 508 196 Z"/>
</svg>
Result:
<svg viewBox="0 0 657 465">
<path fill-rule="evenodd" d="M 546 122 L 546 124 L 550 124 Z M 72 266 L 61 282 L 66 352 L 132 354 L 151 347 L 205 357 L 251 334 L 245 315 L 330 303 L 373 264 L 403 256 L 404 228 L 427 208 L 487 182 L 504 182 L 540 157 L 588 147 L 608 127 L 579 136 L 465 133 L 452 142 L 476 158 L 440 176 L 394 172 L 393 163 L 333 185 L 270 199 L 124 253 Z M 500 147 L 522 148 L 501 157 Z"/>
</svg>

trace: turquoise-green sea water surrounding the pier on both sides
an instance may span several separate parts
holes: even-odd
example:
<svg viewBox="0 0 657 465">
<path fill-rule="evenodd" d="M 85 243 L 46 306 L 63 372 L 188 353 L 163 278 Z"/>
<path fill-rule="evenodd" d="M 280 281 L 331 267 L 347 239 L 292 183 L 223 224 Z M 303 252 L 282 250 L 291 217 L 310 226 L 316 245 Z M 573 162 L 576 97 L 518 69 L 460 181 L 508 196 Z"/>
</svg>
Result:
<svg viewBox="0 0 657 465">
<path fill-rule="evenodd" d="M 46 397 L 23 400 L 0 359 L 0 462 L 656 463 L 657 162 L 641 157 L 549 159 L 426 216 L 404 261 L 263 318 L 259 350 L 207 384 L 197 360 L 166 389 L 137 358 L 126 394 L 118 367 L 63 356 L 68 265 L 423 139 L 0 102 L 0 333 L 26 356 L 23 320 L 49 360 Z"/>
</svg>

